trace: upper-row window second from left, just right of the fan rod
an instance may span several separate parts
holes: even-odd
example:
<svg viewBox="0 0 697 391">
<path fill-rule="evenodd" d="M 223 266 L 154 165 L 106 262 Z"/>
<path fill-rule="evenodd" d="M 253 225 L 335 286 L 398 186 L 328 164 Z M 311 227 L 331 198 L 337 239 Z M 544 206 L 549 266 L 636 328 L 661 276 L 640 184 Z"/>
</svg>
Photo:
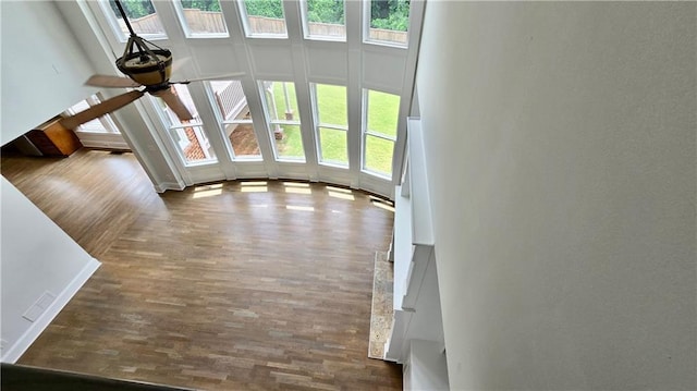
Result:
<svg viewBox="0 0 697 391">
<path fill-rule="evenodd" d="M 180 0 L 176 4 L 187 37 L 228 36 L 228 27 L 218 0 Z"/>
</svg>

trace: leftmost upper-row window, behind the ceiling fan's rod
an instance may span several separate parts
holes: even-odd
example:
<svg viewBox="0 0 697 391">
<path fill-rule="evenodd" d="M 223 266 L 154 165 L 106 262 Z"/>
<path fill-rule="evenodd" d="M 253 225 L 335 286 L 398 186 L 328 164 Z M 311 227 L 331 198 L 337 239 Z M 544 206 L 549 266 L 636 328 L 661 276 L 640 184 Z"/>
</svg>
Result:
<svg viewBox="0 0 697 391">
<path fill-rule="evenodd" d="M 146 39 L 167 38 L 164 28 L 150 0 L 121 0 L 121 5 L 123 5 L 135 34 Z M 109 9 L 110 12 L 106 12 L 106 14 L 113 16 L 112 23 L 115 24 L 117 35 L 122 41 L 125 41 L 130 33 L 117 8 L 117 2 L 109 0 Z"/>
</svg>

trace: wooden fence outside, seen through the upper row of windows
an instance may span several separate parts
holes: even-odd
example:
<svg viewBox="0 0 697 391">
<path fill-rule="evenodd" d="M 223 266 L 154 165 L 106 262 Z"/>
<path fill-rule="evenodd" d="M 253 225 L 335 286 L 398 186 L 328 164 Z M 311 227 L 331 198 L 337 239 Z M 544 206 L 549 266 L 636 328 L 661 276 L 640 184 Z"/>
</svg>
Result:
<svg viewBox="0 0 697 391">
<path fill-rule="evenodd" d="M 188 29 L 194 34 L 225 34 L 225 23 L 220 12 L 185 9 L 184 16 Z M 121 29 L 127 34 L 127 28 L 122 20 L 119 20 Z M 131 21 L 131 25 L 137 34 L 162 34 L 164 29 L 157 14 L 150 14 Z M 285 21 L 282 19 L 249 16 L 249 29 L 253 34 L 285 34 Z M 309 33 L 313 36 L 343 37 L 346 27 L 330 23 L 308 23 Z M 370 39 L 406 44 L 406 32 L 396 32 L 383 28 L 370 28 Z"/>
</svg>

